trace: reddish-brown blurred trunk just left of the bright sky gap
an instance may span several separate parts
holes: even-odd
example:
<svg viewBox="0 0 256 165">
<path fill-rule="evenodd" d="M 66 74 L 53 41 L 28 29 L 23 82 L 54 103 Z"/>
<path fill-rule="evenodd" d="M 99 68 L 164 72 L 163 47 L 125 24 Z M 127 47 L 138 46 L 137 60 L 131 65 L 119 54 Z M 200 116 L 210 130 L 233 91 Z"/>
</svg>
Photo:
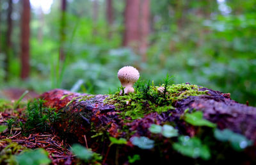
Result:
<svg viewBox="0 0 256 165">
<path fill-rule="evenodd" d="M 29 77 L 29 36 L 30 36 L 30 3 L 29 0 L 22 0 L 21 14 L 21 79 Z"/>
</svg>

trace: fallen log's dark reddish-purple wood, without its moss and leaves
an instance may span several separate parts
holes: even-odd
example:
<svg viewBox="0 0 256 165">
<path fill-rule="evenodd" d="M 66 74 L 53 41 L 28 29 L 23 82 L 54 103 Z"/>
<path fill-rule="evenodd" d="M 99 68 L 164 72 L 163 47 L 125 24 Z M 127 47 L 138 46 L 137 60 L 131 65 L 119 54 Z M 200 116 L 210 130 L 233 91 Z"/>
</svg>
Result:
<svg viewBox="0 0 256 165">
<path fill-rule="evenodd" d="M 229 93 L 208 90 L 208 95 L 189 96 L 173 102 L 175 109 L 164 113 L 152 112 L 143 118 L 130 120 L 120 116 L 115 105 L 106 102 L 108 95 L 87 95 L 72 93 L 67 90 L 51 90 L 40 96 L 45 106 L 54 107 L 61 113 L 59 122 L 54 123 L 54 129 L 68 143 L 82 143 L 93 151 L 101 153 L 104 164 L 127 164 L 127 156 L 139 154 L 140 163 L 189 163 L 204 164 L 203 159 L 184 157 L 172 149 L 172 141 L 161 135 L 152 134 L 148 128 L 152 123 L 163 125 L 173 123 L 179 134 L 198 137 L 211 143 L 211 159 L 207 164 L 228 163 L 253 164 L 256 157 L 256 108 L 239 104 L 230 99 Z M 143 106 L 147 106 L 146 104 Z M 204 118 L 216 123 L 218 129 L 230 129 L 242 134 L 253 141 L 253 146 L 243 152 L 236 152 L 220 141 L 211 138 L 213 131 L 209 127 L 195 127 L 182 120 L 184 111 L 202 111 Z M 109 136 L 125 138 L 127 144 L 109 146 Z M 151 150 L 141 150 L 132 145 L 129 139 L 134 136 L 145 136 L 155 140 L 155 147 Z M 156 146 L 157 145 L 157 146 Z"/>
</svg>

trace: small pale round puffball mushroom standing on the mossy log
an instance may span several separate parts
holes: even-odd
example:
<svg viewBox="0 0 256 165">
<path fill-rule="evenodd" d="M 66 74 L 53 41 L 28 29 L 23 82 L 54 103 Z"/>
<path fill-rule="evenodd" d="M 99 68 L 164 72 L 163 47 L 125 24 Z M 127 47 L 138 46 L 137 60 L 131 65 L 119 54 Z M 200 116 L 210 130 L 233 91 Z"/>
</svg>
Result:
<svg viewBox="0 0 256 165">
<path fill-rule="evenodd" d="M 139 71 L 131 66 L 122 67 L 118 70 L 117 77 L 120 80 L 120 83 L 124 87 L 124 93 L 134 92 L 133 84 L 138 81 L 140 77 Z M 122 94 L 122 91 L 120 91 Z"/>
</svg>

